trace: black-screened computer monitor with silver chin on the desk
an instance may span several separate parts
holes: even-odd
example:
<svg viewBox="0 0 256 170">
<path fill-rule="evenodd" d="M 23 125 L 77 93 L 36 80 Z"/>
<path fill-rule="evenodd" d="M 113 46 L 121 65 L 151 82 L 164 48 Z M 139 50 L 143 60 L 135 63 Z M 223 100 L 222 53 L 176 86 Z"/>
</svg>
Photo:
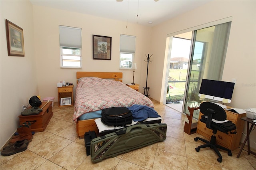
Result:
<svg viewBox="0 0 256 170">
<path fill-rule="evenodd" d="M 199 97 L 230 103 L 235 83 L 202 79 Z"/>
</svg>

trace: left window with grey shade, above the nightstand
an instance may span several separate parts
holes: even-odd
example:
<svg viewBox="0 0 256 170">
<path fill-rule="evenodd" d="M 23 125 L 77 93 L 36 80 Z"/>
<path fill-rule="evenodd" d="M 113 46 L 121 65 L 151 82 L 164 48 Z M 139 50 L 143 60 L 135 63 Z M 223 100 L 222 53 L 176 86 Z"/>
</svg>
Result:
<svg viewBox="0 0 256 170">
<path fill-rule="evenodd" d="M 82 29 L 59 26 L 60 65 L 62 68 L 82 68 Z"/>
</svg>

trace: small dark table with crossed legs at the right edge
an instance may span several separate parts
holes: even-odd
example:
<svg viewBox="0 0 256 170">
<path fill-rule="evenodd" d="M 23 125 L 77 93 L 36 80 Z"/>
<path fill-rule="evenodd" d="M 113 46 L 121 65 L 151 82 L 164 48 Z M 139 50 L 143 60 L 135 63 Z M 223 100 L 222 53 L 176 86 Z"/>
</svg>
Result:
<svg viewBox="0 0 256 170">
<path fill-rule="evenodd" d="M 243 121 L 246 121 L 246 127 L 247 127 L 247 136 L 246 136 L 246 138 L 245 138 L 245 140 L 244 140 L 244 143 L 243 143 L 243 145 L 242 145 L 242 147 L 241 147 L 241 149 L 240 149 L 240 151 L 238 152 L 238 155 L 236 156 L 236 158 L 239 158 L 239 156 L 240 156 L 240 154 L 241 154 L 241 152 L 242 152 L 242 150 L 243 150 L 243 148 L 244 148 L 244 145 L 245 145 L 245 143 L 246 143 L 246 141 L 247 141 L 247 146 L 248 146 L 248 155 L 251 153 L 251 154 L 254 154 L 254 155 L 256 155 L 256 153 L 255 152 L 252 152 L 251 150 L 250 150 L 250 133 L 252 132 L 252 128 L 254 127 L 254 126 L 256 126 L 256 124 L 252 121 L 252 119 L 249 119 L 248 117 L 242 117 L 241 118 Z M 249 129 L 249 123 L 251 123 L 252 125 L 251 125 L 251 127 L 250 127 L 250 129 Z"/>
</svg>

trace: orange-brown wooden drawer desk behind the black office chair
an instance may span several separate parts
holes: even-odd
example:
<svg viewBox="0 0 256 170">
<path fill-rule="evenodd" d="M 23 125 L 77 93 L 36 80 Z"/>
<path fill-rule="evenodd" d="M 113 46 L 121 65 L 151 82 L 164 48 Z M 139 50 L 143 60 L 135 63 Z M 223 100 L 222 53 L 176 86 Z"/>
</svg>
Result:
<svg viewBox="0 0 256 170">
<path fill-rule="evenodd" d="M 226 134 L 224 132 L 217 131 L 216 143 L 230 150 L 235 150 L 239 146 L 241 136 L 242 136 L 242 131 L 244 128 L 244 121 L 241 120 L 241 117 L 245 117 L 246 113 L 238 114 L 238 113 L 233 113 L 231 111 L 226 111 L 226 114 L 227 114 L 227 120 L 232 121 L 234 124 L 236 124 L 236 134 L 230 134 L 230 133 Z M 203 114 L 200 112 L 199 119 L 201 119 L 202 115 Z M 206 137 L 207 140 L 210 140 L 212 136 L 212 129 L 207 128 L 206 124 L 201 121 L 198 121 L 196 132 Z"/>
</svg>

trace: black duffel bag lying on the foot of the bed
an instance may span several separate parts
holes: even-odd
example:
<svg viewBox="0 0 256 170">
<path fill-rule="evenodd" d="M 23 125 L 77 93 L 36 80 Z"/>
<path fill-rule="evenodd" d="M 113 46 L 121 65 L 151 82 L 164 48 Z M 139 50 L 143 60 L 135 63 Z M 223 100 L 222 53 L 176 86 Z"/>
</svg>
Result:
<svg viewBox="0 0 256 170">
<path fill-rule="evenodd" d="M 101 121 L 108 126 L 126 127 L 127 124 L 132 123 L 132 112 L 126 107 L 110 107 L 102 109 Z M 125 131 L 126 129 L 122 133 L 125 133 Z"/>
</svg>

